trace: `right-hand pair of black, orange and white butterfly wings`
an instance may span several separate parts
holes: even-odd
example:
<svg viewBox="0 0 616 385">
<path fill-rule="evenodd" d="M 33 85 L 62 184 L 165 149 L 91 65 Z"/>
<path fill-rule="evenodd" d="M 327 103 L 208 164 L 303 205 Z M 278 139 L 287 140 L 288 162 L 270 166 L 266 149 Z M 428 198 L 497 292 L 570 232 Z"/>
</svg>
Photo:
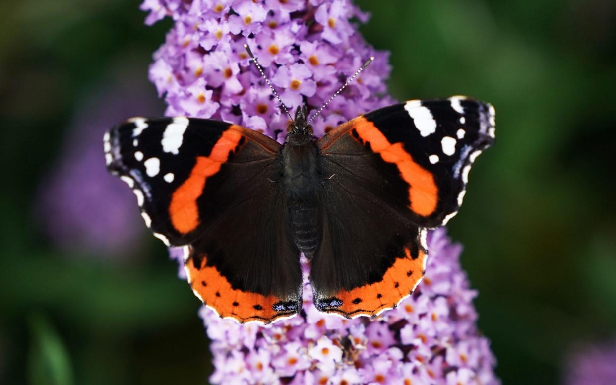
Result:
<svg viewBox="0 0 616 385">
<path fill-rule="evenodd" d="M 424 228 L 462 203 L 494 110 L 465 97 L 411 100 L 359 116 L 317 142 L 324 229 L 312 261 L 316 306 L 347 317 L 395 306 L 423 277 Z"/>
</svg>

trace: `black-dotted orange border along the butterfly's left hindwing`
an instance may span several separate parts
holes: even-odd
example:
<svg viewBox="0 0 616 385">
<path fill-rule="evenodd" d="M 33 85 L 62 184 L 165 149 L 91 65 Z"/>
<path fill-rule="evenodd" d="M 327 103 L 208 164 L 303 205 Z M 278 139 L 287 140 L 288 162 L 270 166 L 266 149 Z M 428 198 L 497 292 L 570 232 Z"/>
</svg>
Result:
<svg viewBox="0 0 616 385">
<path fill-rule="evenodd" d="M 277 318 L 290 317 L 296 313 L 274 310 L 274 305 L 283 301 L 276 296 L 263 296 L 233 289 L 227 278 L 223 277 L 216 267 L 206 266 L 206 259 L 207 257 L 203 258 L 200 269 L 195 268 L 192 259 L 186 262 L 188 282 L 195 295 L 204 304 L 216 310 L 221 317 L 235 318 L 240 323 L 250 321 L 271 323 Z"/>
</svg>

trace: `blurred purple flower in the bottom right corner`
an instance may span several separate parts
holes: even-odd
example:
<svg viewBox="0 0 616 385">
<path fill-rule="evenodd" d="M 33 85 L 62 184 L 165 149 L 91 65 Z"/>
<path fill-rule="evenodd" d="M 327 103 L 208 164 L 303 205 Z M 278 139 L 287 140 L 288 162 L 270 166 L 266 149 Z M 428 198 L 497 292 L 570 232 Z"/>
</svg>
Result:
<svg viewBox="0 0 616 385">
<path fill-rule="evenodd" d="M 616 339 L 575 349 L 565 378 L 569 385 L 616 384 Z"/>
</svg>

